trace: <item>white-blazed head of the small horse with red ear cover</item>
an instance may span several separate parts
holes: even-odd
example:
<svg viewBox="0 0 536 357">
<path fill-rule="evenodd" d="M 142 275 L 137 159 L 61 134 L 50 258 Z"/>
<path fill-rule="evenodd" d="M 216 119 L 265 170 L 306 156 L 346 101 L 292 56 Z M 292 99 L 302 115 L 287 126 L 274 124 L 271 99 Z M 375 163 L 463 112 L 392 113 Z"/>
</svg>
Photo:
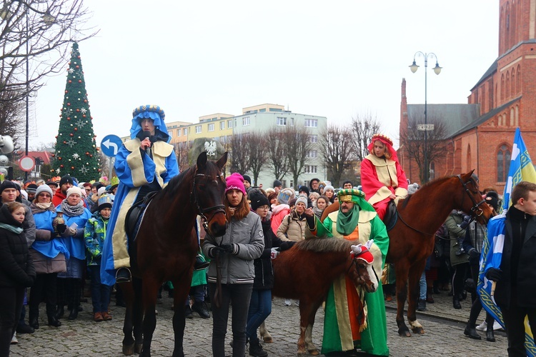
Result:
<svg viewBox="0 0 536 357">
<path fill-rule="evenodd" d="M 374 293 L 378 288 L 379 282 L 372 266 L 374 256 L 369 251 L 370 246 L 372 246 L 372 240 L 365 245 L 352 246 L 352 253 L 350 253 L 352 263 L 348 270 L 348 276 L 355 286 L 363 286 L 368 293 Z"/>
</svg>

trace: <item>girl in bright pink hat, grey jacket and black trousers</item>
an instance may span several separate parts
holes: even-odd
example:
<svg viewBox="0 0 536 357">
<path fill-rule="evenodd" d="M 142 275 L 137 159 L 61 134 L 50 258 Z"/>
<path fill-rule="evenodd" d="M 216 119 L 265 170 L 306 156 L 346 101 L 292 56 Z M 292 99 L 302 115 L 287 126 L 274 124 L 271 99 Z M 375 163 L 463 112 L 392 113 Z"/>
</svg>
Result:
<svg viewBox="0 0 536 357">
<path fill-rule="evenodd" d="M 208 279 L 213 318 L 212 353 L 214 357 L 225 356 L 229 303 L 232 303 L 233 356 L 242 357 L 246 350 L 247 312 L 255 276 L 253 261 L 264 249 L 264 233 L 259 216 L 249 210 L 244 178 L 232 174 L 226 181 L 229 226 L 222 237 L 207 234 L 203 244 L 203 253 L 212 259 Z"/>
</svg>

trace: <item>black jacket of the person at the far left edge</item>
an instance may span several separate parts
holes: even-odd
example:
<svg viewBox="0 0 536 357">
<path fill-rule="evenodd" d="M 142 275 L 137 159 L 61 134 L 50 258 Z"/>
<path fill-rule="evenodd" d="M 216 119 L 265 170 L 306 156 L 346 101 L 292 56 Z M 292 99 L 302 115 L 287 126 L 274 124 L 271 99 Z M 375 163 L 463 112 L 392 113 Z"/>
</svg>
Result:
<svg viewBox="0 0 536 357">
<path fill-rule="evenodd" d="M 21 227 L 6 204 L 0 208 L 0 223 Z M 32 286 L 36 277 L 34 263 L 28 252 L 26 236 L 0 228 L 0 286 Z"/>
</svg>

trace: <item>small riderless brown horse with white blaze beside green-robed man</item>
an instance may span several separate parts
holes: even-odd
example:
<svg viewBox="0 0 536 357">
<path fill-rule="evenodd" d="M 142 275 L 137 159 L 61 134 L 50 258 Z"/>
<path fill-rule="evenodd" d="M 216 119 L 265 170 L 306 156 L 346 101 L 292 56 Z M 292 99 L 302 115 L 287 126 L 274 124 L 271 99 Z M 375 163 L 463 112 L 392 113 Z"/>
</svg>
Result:
<svg viewBox="0 0 536 357">
<path fill-rule="evenodd" d="M 299 299 L 298 354 L 304 354 L 306 348 L 314 356 L 319 354 L 312 343 L 314 316 L 336 278 L 346 273 L 365 291 L 374 292 L 378 287 L 372 264 L 359 254 L 350 254 L 352 244 L 357 241 L 311 238 L 299 241 L 272 260 L 274 296 Z"/>
</svg>

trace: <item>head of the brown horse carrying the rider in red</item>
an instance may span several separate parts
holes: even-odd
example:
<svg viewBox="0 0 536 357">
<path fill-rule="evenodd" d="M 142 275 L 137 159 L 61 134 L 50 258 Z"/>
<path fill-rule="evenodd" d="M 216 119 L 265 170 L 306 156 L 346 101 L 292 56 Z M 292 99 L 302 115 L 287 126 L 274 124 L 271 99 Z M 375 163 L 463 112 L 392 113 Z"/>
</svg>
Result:
<svg viewBox="0 0 536 357">
<path fill-rule="evenodd" d="M 456 177 L 460 181 L 465 193 L 462 196 L 460 208 L 466 213 L 470 213 L 481 224 L 487 223 L 487 221 L 495 216 L 493 208 L 490 208 L 486 204 L 486 201 L 482 198 L 482 194 L 478 189 L 478 182 L 473 175 L 472 170 L 467 174 L 460 174 Z"/>
</svg>

